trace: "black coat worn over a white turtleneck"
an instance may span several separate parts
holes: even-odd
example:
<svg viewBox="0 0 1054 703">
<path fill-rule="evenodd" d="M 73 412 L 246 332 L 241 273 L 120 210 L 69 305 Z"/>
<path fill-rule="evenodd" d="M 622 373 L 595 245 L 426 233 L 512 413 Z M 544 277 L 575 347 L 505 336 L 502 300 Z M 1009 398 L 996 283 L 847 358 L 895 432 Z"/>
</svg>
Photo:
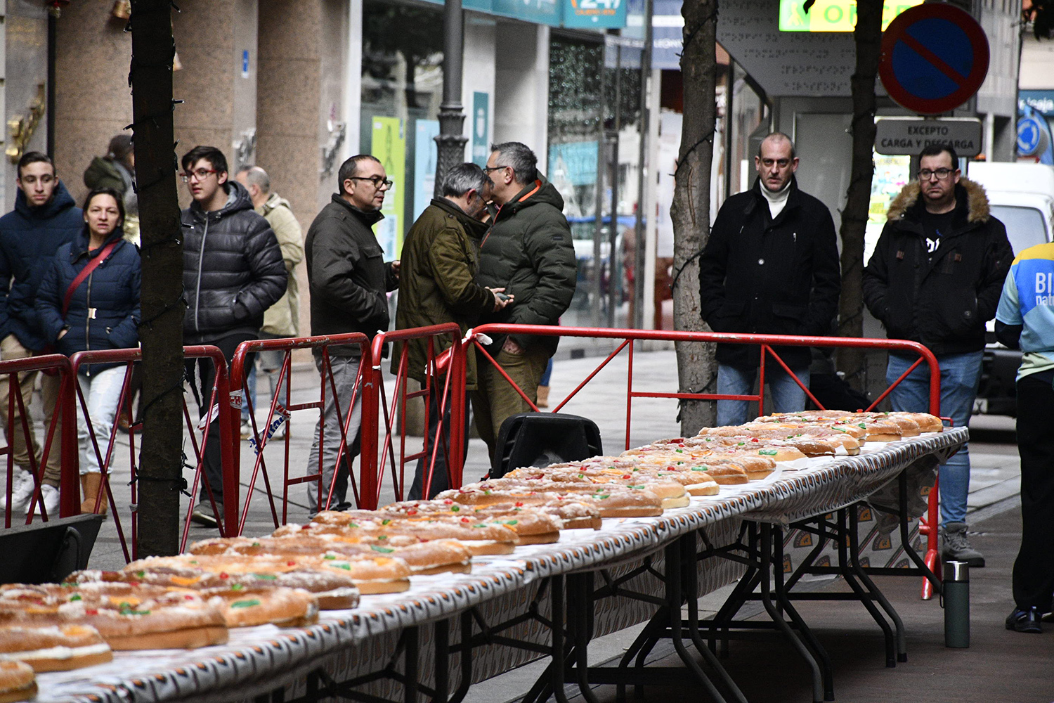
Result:
<svg viewBox="0 0 1054 703">
<path fill-rule="evenodd" d="M 699 258 L 700 312 L 715 332 L 824 335 L 838 312 L 841 274 L 831 211 L 790 178 L 774 219 L 754 188 L 718 212 Z M 808 368 L 807 347 L 777 347 L 794 370 Z M 718 345 L 718 362 L 757 368 L 760 348 Z M 769 359 L 772 360 L 772 359 Z"/>
</svg>

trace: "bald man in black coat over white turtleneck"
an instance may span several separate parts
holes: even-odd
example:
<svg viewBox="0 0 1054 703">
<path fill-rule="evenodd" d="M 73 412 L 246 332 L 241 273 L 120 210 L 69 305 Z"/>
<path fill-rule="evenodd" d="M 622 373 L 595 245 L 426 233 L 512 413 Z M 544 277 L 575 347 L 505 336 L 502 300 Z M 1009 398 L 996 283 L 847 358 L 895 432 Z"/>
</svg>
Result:
<svg viewBox="0 0 1054 703">
<path fill-rule="evenodd" d="M 798 157 L 785 134 L 765 137 L 754 165 L 754 188 L 721 206 L 699 258 L 700 312 L 715 332 L 823 335 L 841 291 L 831 211 L 798 189 Z M 807 387 L 808 347 L 776 352 Z M 718 345 L 717 357 L 717 392 L 753 393 L 760 348 Z M 777 412 L 804 410 L 805 391 L 772 357 L 765 380 Z M 747 401 L 718 401 L 718 425 L 740 425 L 747 413 Z"/>
</svg>

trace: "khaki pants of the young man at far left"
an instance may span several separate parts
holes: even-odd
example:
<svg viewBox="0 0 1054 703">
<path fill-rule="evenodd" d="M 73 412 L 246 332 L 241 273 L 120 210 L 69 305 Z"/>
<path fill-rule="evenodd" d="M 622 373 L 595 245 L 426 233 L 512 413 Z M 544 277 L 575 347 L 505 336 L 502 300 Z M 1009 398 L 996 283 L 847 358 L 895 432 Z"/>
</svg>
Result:
<svg viewBox="0 0 1054 703">
<path fill-rule="evenodd" d="M 34 353 L 22 346 L 14 334 L 8 334 L 0 341 L 0 359 L 25 358 Z M 51 426 L 52 416 L 55 414 L 55 404 L 59 399 L 59 389 L 62 385 L 60 376 L 48 376 L 37 371 L 26 371 L 18 374 L 18 385 L 22 391 L 22 404 L 26 410 L 33 401 L 33 384 L 40 376 L 40 396 L 44 405 L 44 438 L 46 440 L 47 428 Z M 15 412 L 12 417 L 7 416 L 7 403 L 9 395 L 9 382 L 6 376 L 0 377 L 0 418 L 3 419 L 3 429 L 7 433 L 7 442 L 15 455 L 15 464 L 30 470 L 30 450 L 25 443 L 25 432 L 22 429 L 21 413 L 18 410 L 18 399 L 15 399 Z M 41 446 L 37 442 L 37 433 L 33 428 L 32 414 L 26 418 L 30 427 L 30 442 L 33 444 L 33 454 L 37 462 L 40 461 Z M 55 435 L 52 437 L 52 446 L 47 450 L 47 465 L 44 467 L 43 482 L 55 488 L 59 487 L 62 465 L 62 421 L 55 424 Z"/>
</svg>

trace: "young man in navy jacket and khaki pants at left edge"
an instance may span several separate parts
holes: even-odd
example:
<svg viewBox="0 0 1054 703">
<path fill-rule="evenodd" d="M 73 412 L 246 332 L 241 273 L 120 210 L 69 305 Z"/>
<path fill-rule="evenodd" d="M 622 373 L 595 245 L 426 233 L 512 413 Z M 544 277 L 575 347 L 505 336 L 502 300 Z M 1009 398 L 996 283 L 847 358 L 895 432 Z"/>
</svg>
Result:
<svg viewBox="0 0 1054 703">
<path fill-rule="evenodd" d="M 0 218 L 0 358 L 22 358 L 45 353 L 45 341 L 35 308 L 37 289 L 44 274 L 52 268 L 55 252 L 62 245 L 73 241 L 84 227 L 80 208 L 76 207 L 70 192 L 58 179 L 52 159 L 40 152 L 26 152 L 18 162 L 18 194 L 15 210 Z M 22 402 L 28 406 L 33 397 L 33 384 L 37 372 L 19 374 Z M 59 395 L 58 376 L 42 375 L 40 394 L 44 406 L 45 428 L 51 424 Z M 7 416 L 8 386 L 0 384 L 0 417 L 4 427 L 14 430 L 8 442 L 14 451 L 15 474 L 12 485 L 12 510 L 22 510 L 30 505 L 35 482 L 30 472 L 30 446 L 21 430 L 18 405 Z M 28 438 L 33 453 L 40 458 L 33 422 L 30 421 Z M 60 422 L 56 422 L 55 436 L 60 436 Z M 6 431 L 6 430 L 5 430 Z M 60 456 L 53 441 L 43 470 L 40 496 L 48 516 L 58 515 Z M 0 497 L 0 510 L 7 494 Z"/>
</svg>

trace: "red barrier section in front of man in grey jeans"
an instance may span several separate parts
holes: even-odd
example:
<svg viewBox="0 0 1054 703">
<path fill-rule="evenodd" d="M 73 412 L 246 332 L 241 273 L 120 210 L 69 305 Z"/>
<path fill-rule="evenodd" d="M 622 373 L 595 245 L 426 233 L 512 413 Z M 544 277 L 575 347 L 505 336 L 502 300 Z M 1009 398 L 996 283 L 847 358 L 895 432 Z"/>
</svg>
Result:
<svg viewBox="0 0 1054 703">
<path fill-rule="evenodd" d="M 336 396 L 336 385 L 333 380 L 332 367 L 330 364 L 329 348 L 334 346 L 346 346 L 355 345 L 359 349 L 362 363 L 358 366 L 358 377 L 355 383 L 355 388 L 352 392 L 352 396 L 347 398 L 347 403 L 337 404 L 337 421 L 340 425 L 340 447 L 337 453 L 336 465 L 339 466 L 344 460 L 345 453 L 348 452 L 348 448 L 354 444 L 355 437 L 348 436 L 349 422 L 351 419 L 351 408 L 354 407 L 354 402 L 356 396 L 362 393 L 363 403 L 363 414 L 362 414 L 362 427 L 363 428 L 373 428 L 371 431 L 362 432 L 362 456 L 360 466 L 369 468 L 360 469 L 363 475 L 363 486 L 359 487 L 355 482 L 355 474 L 352 472 L 349 476 L 351 482 L 352 493 L 355 496 L 356 503 L 362 506 L 363 494 L 372 494 L 373 486 L 368 485 L 367 476 L 373 475 L 374 470 L 369 457 L 376 456 L 376 428 L 377 428 L 377 417 L 376 417 L 376 405 L 372 403 L 371 398 L 375 396 L 374 389 L 374 372 L 372 356 L 370 354 L 370 340 L 365 334 L 350 333 L 350 334 L 333 334 L 329 336 L 316 336 L 316 337 L 297 337 L 288 339 L 254 339 L 250 341 L 245 341 L 238 346 L 237 350 L 234 352 L 234 357 L 231 359 L 231 378 L 241 378 L 245 379 L 247 371 L 247 355 L 259 352 L 259 351 L 282 351 L 285 352 L 285 358 L 282 359 L 281 368 L 278 371 L 278 388 L 286 389 L 287 399 L 292 399 L 292 385 L 290 380 L 291 371 L 291 353 L 294 349 L 312 349 L 319 350 L 321 355 L 321 374 L 320 374 L 320 385 L 319 385 L 319 396 L 317 401 L 311 403 L 300 403 L 293 404 L 290 403 L 288 407 L 281 407 L 278 403 L 278 396 L 280 392 L 276 392 L 274 397 L 271 398 L 270 409 L 268 411 L 267 422 L 264 424 L 262 430 L 257 427 L 256 415 L 254 412 L 252 398 L 249 397 L 248 385 L 245 380 L 241 382 L 241 389 L 238 391 L 232 391 L 231 402 L 227 404 L 227 416 L 225 418 L 225 425 L 230 428 L 232 436 L 238 436 L 239 426 L 240 426 L 240 415 L 241 415 L 241 404 L 242 398 L 249 403 L 249 416 L 252 424 L 252 434 L 253 434 L 253 445 L 256 449 L 256 458 L 253 463 L 253 471 L 249 479 L 249 487 L 246 491 L 246 502 L 241 508 L 240 519 L 235 523 L 237 525 L 237 534 L 240 534 L 245 529 L 246 520 L 249 516 L 249 507 L 252 503 L 254 491 L 256 489 L 256 481 L 262 477 L 265 486 L 265 494 L 268 497 L 268 503 L 271 508 L 271 516 L 274 520 L 275 527 L 279 525 L 285 525 L 288 516 L 289 507 L 289 487 L 302 484 L 311 481 L 316 481 L 318 486 L 317 503 L 321 509 L 329 509 L 330 503 L 333 500 L 333 486 L 336 480 L 337 472 L 333 472 L 333 482 L 326 488 L 325 500 L 324 499 L 324 486 L 323 486 L 323 449 L 324 449 L 324 437 L 319 436 L 319 447 L 318 447 L 318 467 L 317 471 L 310 473 L 308 475 L 296 475 L 290 477 L 289 470 L 289 437 L 290 431 L 286 432 L 285 444 L 285 454 L 284 454 L 284 473 L 281 482 L 281 518 L 278 516 L 277 508 L 274 503 L 274 491 L 271 486 L 271 476 L 267 470 L 267 460 L 265 457 L 264 449 L 267 447 L 269 441 L 277 430 L 277 428 L 285 423 L 289 423 L 292 417 L 292 412 L 295 410 L 309 410 L 317 409 L 319 415 L 323 417 L 323 425 L 320 426 L 319 433 L 325 432 L 325 413 L 324 408 L 326 407 L 327 392 L 332 393 Z M 372 408 L 372 410 L 371 410 Z M 276 419 L 275 415 L 278 415 Z M 285 419 L 280 419 L 280 418 Z M 232 475 L 235 477 L 234 481 L 237 483 L 240 481 L 240 462 L 241 452 L 240 450 L 234 450 L 232 452 Z M 300 472 L 297 472 L 298 474 Z"/>
</svg>

